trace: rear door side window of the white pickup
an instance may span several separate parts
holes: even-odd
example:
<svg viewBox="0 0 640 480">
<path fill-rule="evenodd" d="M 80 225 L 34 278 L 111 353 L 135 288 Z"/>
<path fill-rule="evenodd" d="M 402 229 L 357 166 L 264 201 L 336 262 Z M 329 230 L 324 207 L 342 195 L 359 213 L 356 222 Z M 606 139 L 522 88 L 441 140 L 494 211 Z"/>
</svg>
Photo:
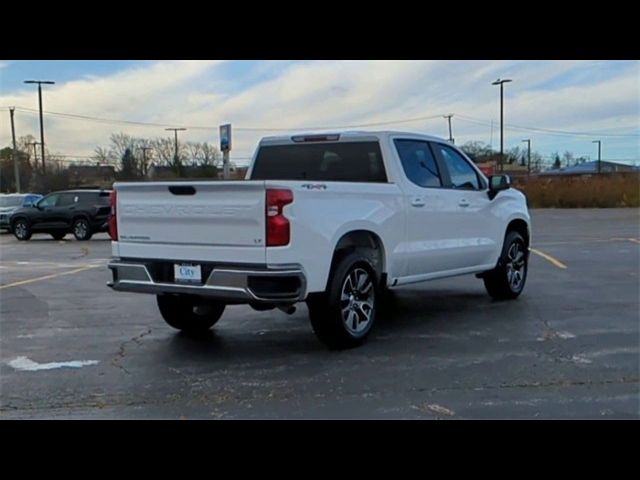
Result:
<svg viewBox="0 0 640 480">
<path fill-rule="evenodd" d="M 394 140 L 402 168 L 409 180 L 420 187 L 441 187 L 438 165 L 427 142 Z"/>
</svg>

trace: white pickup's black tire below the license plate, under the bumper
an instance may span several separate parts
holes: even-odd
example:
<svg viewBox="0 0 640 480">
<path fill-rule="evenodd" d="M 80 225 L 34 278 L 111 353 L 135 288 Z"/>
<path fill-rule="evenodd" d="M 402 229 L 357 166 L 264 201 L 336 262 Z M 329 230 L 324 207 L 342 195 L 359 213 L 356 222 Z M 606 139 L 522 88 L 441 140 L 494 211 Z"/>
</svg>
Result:
<svg viewBox="0 0 640 480">
<path fill-rule="evenodd" d="M 216 324 L 224 313 L 225 304 L 187 295 L 158 295 L 162 318 L 177 330 L 203 333 Z"/>
</svg>

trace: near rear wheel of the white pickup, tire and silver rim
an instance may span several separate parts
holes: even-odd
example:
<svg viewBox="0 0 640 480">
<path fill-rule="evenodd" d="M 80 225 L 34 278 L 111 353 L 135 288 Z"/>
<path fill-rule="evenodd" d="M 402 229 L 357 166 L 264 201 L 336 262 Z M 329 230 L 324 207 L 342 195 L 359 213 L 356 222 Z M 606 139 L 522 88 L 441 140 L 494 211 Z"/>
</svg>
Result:
<svg viewBox="0 0 640 480">
<path fill-rule="evenodd" d="M 362 345 L 375 323 L 378 283 L 373 264 L 361 253 L 354 251 L 338 260 L 326 292 L 307 299 L 309 319 L 318 339 L 330 349 Z"/>
</svg>

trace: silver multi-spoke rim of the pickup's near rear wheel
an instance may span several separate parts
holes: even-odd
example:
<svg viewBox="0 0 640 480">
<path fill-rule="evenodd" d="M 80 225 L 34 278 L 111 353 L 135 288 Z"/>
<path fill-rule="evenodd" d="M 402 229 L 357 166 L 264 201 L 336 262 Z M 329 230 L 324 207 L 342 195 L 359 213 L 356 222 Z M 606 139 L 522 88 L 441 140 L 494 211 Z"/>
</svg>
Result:
<svg viewBox="0 0 640 480">
<path fill-rule="evenodd" d="M 375 306 L 375 289 L 369 273 L 363 268 L 353 269 L 344 280 L 340 294 L 342 322 L 354 336 L 364 334 L 371 325 Z"/>
</svg>

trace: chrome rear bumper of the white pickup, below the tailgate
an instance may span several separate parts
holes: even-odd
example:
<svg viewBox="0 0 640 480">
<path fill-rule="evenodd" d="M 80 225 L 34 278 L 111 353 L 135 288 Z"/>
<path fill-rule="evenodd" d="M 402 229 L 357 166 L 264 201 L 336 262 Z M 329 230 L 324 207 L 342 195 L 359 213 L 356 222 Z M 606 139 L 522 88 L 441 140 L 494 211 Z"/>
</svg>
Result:
<svg viewBox="0 0 640 480">
<path fill-rule="evenodd" d="M 172 262 L 113 259 L 107 266 L 113 274 L 107 285 L 119 292 L 198 295 L 226 303 L 295 303 L 306 295 L 306 279 L 298 265 L 203 265 L 201 284 L 176 283 Z"/>
</svg>

